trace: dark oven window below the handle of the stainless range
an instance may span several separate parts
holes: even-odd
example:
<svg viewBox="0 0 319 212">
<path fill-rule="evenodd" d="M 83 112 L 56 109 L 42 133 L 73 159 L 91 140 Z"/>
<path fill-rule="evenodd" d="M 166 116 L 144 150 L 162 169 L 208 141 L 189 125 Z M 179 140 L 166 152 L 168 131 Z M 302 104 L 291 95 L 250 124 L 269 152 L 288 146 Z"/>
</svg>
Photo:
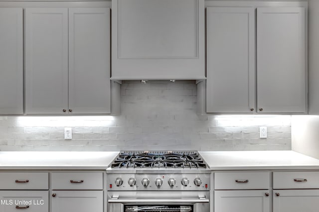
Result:
<svg viewBox="0 0 319 212">
<path fill-rule="evenodd" d="M 180 205 L 132 205 L 125 206 L 125 212 L 193 212 L 193 206 L 180 206 Z"/>
</svg>

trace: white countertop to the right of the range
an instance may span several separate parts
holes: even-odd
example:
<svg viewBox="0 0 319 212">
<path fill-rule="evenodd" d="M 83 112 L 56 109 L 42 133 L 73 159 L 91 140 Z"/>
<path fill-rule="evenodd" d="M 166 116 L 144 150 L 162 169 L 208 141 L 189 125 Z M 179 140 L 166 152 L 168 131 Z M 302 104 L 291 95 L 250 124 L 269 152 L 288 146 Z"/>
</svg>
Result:
<svg viewBox="0 0 319 212">
<path fill-rule="evenodd" d="M 295 151 L 200 151 L 211 170 L 319 169 L 319 160 Z"/>
</svg>

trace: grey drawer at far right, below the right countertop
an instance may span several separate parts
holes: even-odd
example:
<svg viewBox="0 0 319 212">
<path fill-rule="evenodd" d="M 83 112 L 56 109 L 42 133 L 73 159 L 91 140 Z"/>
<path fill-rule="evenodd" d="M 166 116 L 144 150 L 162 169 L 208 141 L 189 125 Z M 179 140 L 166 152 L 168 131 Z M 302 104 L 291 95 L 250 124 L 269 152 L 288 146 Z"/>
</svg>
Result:
<svg viewBox="0 0 319 212">
<path fill-rule="evenodd" d="M 319 172 L 274 172 L 274 189 L 318 189 Z"/>
</svg>

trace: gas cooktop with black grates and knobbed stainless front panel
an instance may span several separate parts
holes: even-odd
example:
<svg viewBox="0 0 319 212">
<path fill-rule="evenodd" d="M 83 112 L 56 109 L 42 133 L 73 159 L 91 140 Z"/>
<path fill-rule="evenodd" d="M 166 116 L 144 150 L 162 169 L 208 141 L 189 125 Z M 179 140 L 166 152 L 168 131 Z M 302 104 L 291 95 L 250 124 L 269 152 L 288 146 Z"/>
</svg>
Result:
<svg viewBox="0 0 319 212">
<path fill-rule="evenodd" d="M 108 191 L 209 191 L 211 174 L 197 151 L 120 151 L 106 172 Z"/>
</svg>

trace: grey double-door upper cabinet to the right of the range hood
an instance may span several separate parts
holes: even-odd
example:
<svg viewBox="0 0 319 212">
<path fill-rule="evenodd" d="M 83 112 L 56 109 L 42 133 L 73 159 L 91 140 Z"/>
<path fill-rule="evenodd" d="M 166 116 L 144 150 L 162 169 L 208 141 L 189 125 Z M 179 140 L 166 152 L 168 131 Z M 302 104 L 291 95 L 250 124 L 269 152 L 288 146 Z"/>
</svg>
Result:
<svg viewBox="0 0 319 212">
<path fill-rule="evenodd" d="M 307 113 L 306 8 L 207 2 L 207 113 Z"/>
</svg>

